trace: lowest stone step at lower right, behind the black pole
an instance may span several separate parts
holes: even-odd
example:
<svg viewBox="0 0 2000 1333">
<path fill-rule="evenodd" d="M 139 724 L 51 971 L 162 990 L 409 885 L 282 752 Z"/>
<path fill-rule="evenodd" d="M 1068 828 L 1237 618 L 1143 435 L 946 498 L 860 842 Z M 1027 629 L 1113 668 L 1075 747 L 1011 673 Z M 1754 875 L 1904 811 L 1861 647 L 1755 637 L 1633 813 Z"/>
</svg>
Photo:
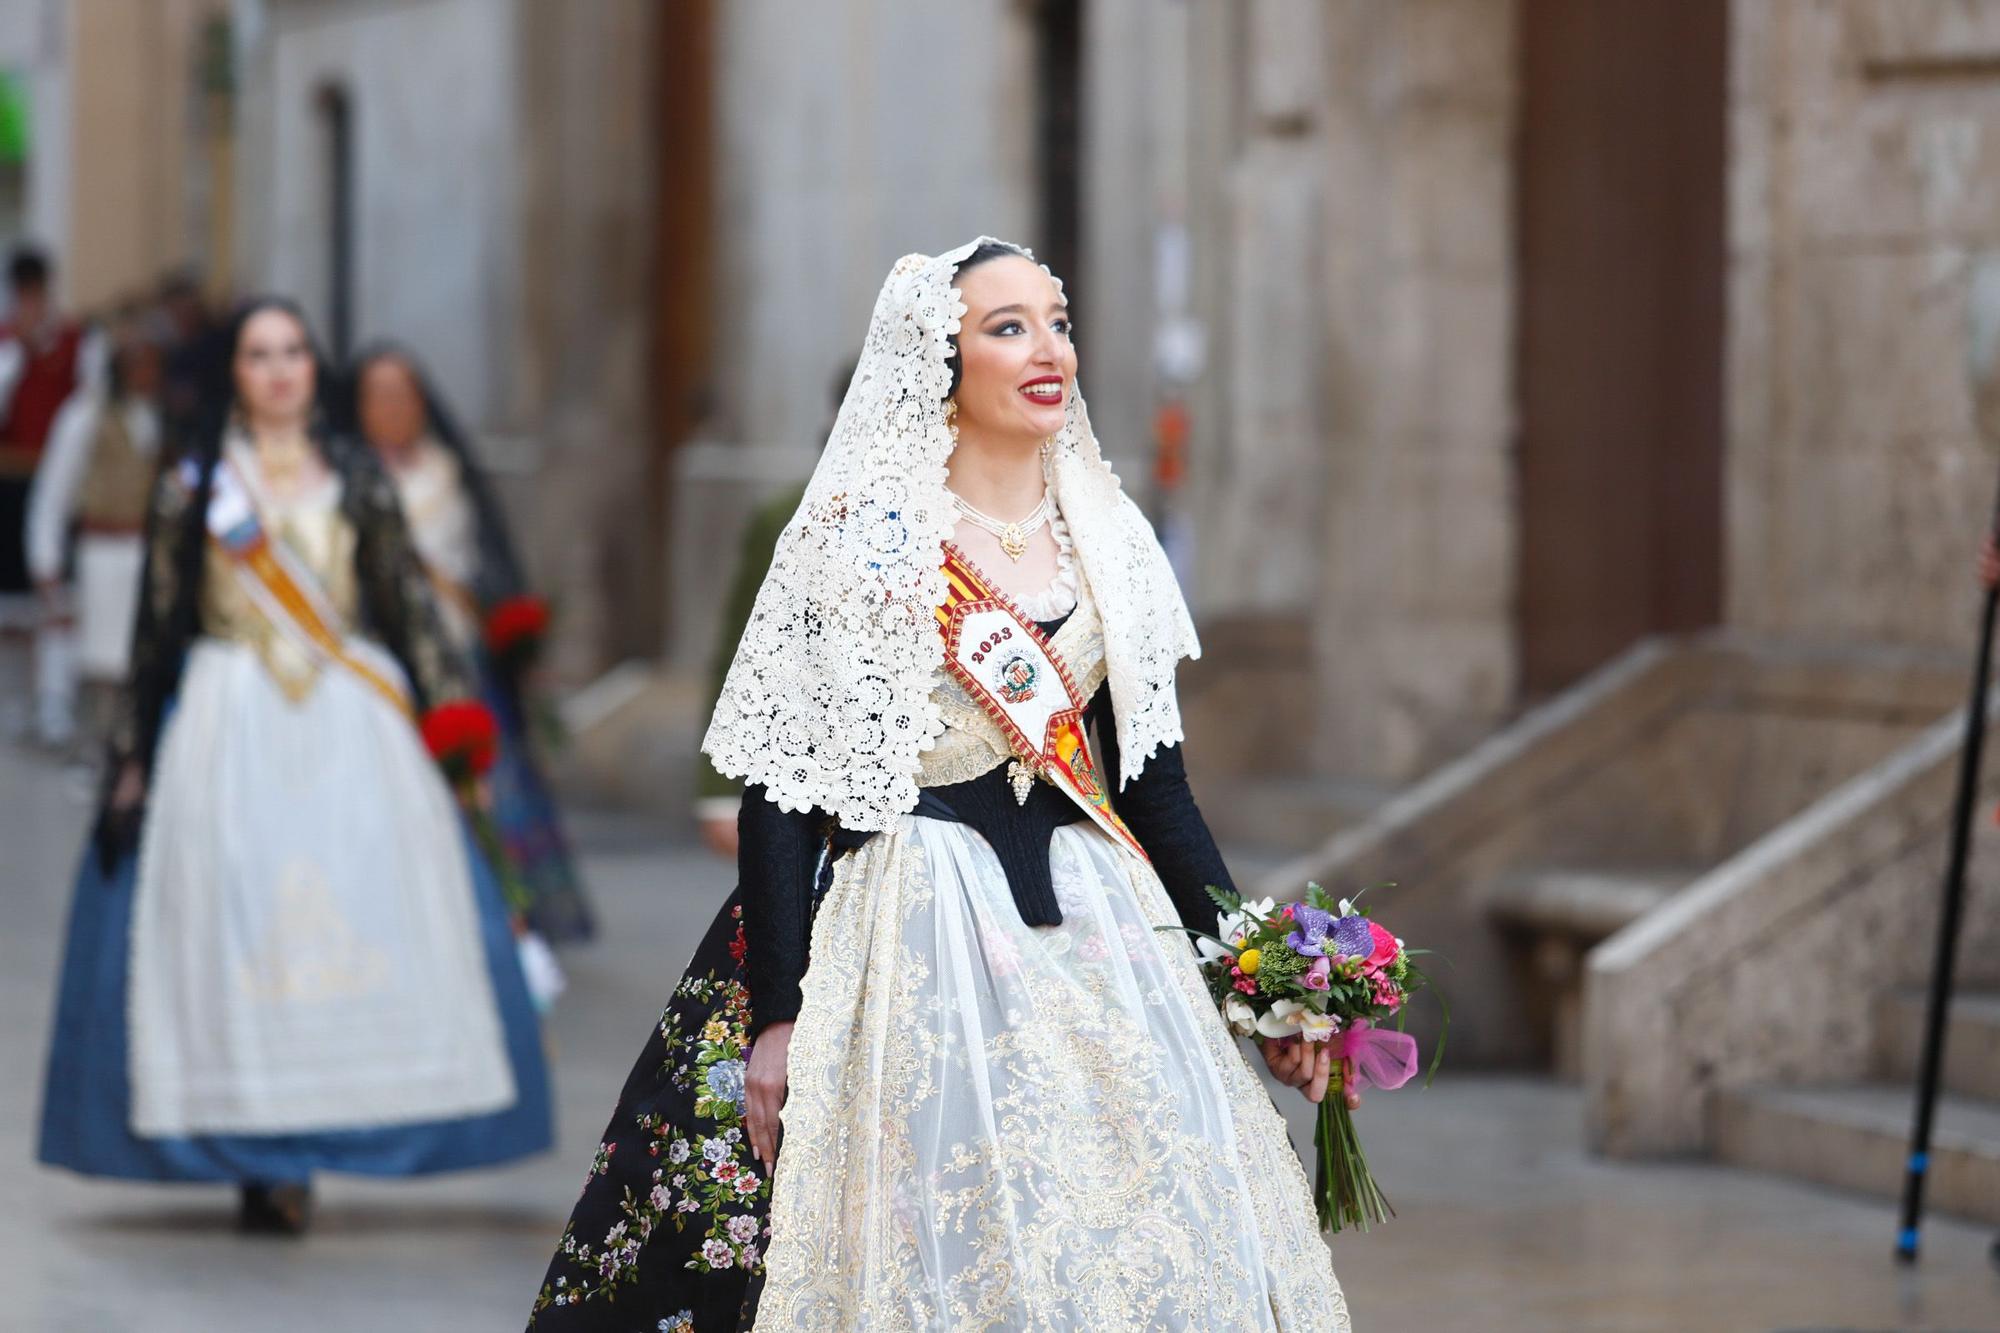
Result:
<svg viewBox="0 0 2000 1333">
<path fill-rule="evenodd" d="M 1888 1083 L 1726 1091 L 1714 1107 L 1716 1157 L 1894 1201 L 1914 1109 L 1916 1091 Z M 2000 1223 L 2000 1105 L 1938 1099 L 1924 1199 L 1928 1211 Z"/>
</svg>

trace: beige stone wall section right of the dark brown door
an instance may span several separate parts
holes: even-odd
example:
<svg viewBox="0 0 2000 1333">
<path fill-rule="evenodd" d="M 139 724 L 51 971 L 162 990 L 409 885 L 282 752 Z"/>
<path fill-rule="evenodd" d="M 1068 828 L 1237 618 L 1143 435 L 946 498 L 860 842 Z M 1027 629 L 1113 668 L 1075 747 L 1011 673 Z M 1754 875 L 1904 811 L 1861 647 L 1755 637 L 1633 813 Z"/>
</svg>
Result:
<svg viewBox="0 0 2000 1333">
<path fill-rule="evenodd" d="M 1728 620 L 1956 648 L 2000 458 L 1964 376 L 2000 244 L 2000 6 L 1732 6 Z"/>
</svg>

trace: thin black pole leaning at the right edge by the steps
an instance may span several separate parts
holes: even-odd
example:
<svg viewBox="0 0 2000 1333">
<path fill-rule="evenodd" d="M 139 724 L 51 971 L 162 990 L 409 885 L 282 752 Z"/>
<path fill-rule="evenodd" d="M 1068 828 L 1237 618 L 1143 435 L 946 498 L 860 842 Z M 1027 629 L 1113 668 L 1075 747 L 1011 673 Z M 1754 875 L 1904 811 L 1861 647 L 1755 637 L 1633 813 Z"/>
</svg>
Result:
<svg viewBox="0 0 2000 1333">
<path fill-rule="evenodd" d="M 2000 536 L 2000 500 L 1992 532 Z M 1980 753 L 1986 749 L 1986 681 L 1992 671 L 1994 610 L 2000 588 L 1986 588 L 1980 644 L 1966 705 L 1966 745 L 1958 757 L 1958 803 L 1952 809 L 1952 855 L 1944 865 L 1944 909 L 1938 913 L 1938 949 L 1930 963 L 1930 1001 L 1924 1009 L 1924 1059 L 1916 1071 L 1916 1123 L 1910 1127 L 1910 1165 L 1902 1181 L 1902 1225 L 1896 1259 L 1916 1263 L 1918 1229 L 1924 1225 L 1924 1177 L 1930 1171 L 1930 1127 L 1938 1115 L 1944 1077 L 1944 1021 L 1952 1007 L 1952 973 L 1958 967 L 1958 927 L 1966 917 L 1966 865 L 1972 859 L 1972 815 L 1980 797 Z"/>
</svg>

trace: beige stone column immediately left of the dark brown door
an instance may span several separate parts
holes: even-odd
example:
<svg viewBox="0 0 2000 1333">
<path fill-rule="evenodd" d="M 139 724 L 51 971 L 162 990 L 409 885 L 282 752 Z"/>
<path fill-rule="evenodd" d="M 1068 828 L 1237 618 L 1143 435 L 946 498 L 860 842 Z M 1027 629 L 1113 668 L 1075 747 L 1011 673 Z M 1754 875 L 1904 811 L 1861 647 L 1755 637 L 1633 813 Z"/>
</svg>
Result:
<svg viewBox="0 0 2000 1333">
<path fill-rule="evenodd" d="M 1514 10 L 1324 14 L 1316 767 L 1406 781 L 1514 697 Z"/>
</svg>

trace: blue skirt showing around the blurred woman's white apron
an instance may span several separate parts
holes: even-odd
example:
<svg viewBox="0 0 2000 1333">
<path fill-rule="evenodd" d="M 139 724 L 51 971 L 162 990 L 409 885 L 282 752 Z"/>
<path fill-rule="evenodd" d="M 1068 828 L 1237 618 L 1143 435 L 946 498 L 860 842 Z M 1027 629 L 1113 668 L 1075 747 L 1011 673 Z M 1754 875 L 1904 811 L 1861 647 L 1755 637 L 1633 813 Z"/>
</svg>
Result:
<svg viewBox="0 0 2000 1333">
<path fill-rule="evenodd" d="M 126 973 L 138 857 L 108 879 L 92 849 L 76 873 L 56 997 L 36 1157 L 50 1167 L 126 1181 L 304 1181 L 314 1171 L 430 1175 L 490 1167 L 550 1147 L 554 1117 L 542 1031 L 520 975 L 514 933 L 492 871 L 470 847 L 480 935 L 514 1067 L 516 1101 L 488 1115 L 382 1129 L 140 1139 L 126 1073 Z"/>
</svg>

